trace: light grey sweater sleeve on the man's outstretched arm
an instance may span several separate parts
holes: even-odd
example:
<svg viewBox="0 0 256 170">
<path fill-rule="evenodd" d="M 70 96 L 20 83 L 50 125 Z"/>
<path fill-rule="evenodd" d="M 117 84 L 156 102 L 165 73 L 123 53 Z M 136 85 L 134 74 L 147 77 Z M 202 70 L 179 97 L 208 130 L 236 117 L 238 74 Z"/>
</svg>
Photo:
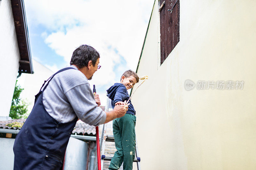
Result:
<svg viewBox="0 0 256 170">
<path fill-rule="evenodd" d="M 65 93 L 77 117 L 84 123 L 98 126 L 106 121 L 106 113 L 98 107 L 88 83 L 78 85 Z"/>
</svg>

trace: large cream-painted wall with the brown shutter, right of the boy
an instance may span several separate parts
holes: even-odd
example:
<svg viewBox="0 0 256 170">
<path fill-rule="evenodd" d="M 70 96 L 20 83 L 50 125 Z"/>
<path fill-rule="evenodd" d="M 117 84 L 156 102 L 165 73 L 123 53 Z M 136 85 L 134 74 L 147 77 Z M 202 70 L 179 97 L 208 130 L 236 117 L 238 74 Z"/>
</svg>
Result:
<svg viewBox="0 0 256 170">
<path fill-rule="evenodd" d="M 255 9 L 255 1 L 180 0 L 180 42 L 159 66 L 156 1 L 138 68 L 149 80 L 132 99 L 143 169 L 256 169 Z M 187 79 L 244 88 L 186 91 Z"/>
</svg>

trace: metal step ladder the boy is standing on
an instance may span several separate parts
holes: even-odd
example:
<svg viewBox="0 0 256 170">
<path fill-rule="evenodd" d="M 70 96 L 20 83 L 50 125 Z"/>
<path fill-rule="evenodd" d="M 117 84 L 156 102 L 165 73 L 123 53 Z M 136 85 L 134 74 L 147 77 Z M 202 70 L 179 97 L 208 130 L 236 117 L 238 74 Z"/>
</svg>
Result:
<svg viewBox="0 0 256 170">
<path fill-rule="evenodd" d="M 105 107 L 105 111 L 108 112 L 108 109 L 112 109 L 111 100 L 107 97 L 107 105 Z M 136 132 L 135 132 L 136 134 Z M 107 135 L 107 124 L 103 124 L 102 134 L 100 138 L 100 158 L 101 158 L 101 170 L 103 170 L 103 163 L 104 161 L 110 161 L 112 156 L 105 155 L 105 143 L 106 142 L 115 142 L 113 135 Z M 133 162 L 137 163 L 137 169 L 140 169 L 140 156 L 139 156 L 139 149 L 138 149 L 138 142 L 137 142 L 137 135 L 135 135 L 135 159 Z"/>
</svg>

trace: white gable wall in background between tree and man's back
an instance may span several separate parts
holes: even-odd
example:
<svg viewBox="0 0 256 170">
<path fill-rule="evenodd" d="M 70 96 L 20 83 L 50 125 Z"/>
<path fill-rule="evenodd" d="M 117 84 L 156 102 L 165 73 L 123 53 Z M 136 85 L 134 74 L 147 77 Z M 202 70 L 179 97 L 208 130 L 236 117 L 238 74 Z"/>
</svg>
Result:
<svg viewBox="0 0 256 170">
<path fill-rule="evenodd" d="M 39 92 L 42 87 L 44 80 L 47 80 L 53 72 L 49 68 L 45 67 L 36 60 L 32 60 L 34 74 L 21 74 L 18 78 L 18 83 L 24 90 L 21 92 L 21 99 L 25 100 L 28 105 L 28 113 L 31 112 L 34 102 L 35 95 Z"/>
</svg>

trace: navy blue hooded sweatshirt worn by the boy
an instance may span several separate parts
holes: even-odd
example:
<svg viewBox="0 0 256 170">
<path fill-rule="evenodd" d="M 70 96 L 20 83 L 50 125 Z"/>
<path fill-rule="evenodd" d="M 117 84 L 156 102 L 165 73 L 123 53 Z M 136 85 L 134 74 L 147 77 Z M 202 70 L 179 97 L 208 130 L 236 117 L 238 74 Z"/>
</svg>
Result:
<svg viewBox="0 0 256 170">
<path fill-rule="evenodd" d="M 127 92 L 127 89 L 125 88 L 125 86 L 122 83 L 115 83 L 113 86 L 111 86 L 108 90 L 107 90 L 108 94 L 108 98 L 111 99 L 111 105 L 112 108 L 114 109 L 115 107 L 115 103 L 116 102 L 124 102 L 125 100 L 129 100 L 130 96 Z M 128 102 L 130 103 L 130 105 L 128 106 L 128 110 L 126 113 L 128 114 L 132 114 L 135 115 L 136 111 L 134 110 L 134 107 L 132 106 L 131 100 Z"/>
</svg>

